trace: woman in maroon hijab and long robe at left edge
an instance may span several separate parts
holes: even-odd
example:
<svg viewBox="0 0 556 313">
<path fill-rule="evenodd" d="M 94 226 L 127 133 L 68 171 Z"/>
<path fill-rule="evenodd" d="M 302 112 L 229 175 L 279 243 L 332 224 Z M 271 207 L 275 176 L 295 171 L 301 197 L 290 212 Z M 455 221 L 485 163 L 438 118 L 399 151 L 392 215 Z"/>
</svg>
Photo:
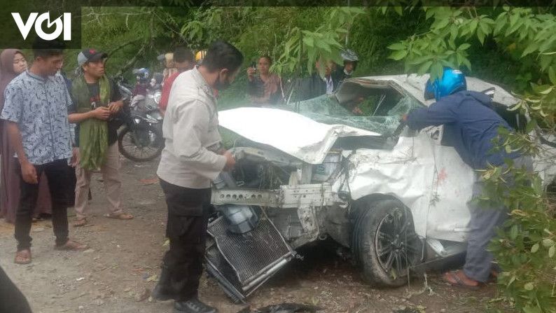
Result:
<svg viewBox="0 0 556 313">
<path fill-rule="evenodd" d="M 20 50 L 6 49 L 0 53 L 0 112 L 4 109 L 4 90 L 6 86 L 19 74 L 27 69 L 27 60 Z M 15 166 L 15 151 L 10 145 L 6 125 L 0 120 L 0 217 L 6 221 L 15 221 L 15 212 L 20 200 L 20 174 Z M 50 193 L 46 177 L 41 178 L 39 198 L 37 200 L 36 215 L 51 213 Z"/>
</svg>

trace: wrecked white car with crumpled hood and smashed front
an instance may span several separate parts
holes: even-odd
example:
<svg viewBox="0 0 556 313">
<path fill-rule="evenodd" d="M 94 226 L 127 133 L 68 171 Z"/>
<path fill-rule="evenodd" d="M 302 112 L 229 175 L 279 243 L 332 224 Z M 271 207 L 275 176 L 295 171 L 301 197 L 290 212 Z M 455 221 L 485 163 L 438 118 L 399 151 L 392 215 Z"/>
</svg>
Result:
<svg viewBox="0 0 556 313">
<path fill-rule="evenodd" d="M 443 143 L 442 126 L 399 134 L 403 114 L 432 103 L 423 97 L 427 79 L 353 78 L 333 95 L 284 108 L 219 113 L 220 125 L 241 139 L 232 148 L 235 169 L 214 182 L 219 214 L 208 226 L 206 260 L 233 300 L 249 296 L 300 246 L 327 237 L 350 249 L 374 286 L 400 286 L 411 270 L 465 251 L 473 170 Z M 494 88 L 501 116 L 524 130 L 526 118 L 507 110 L 515 97 L 477 78 L 467 84 Z M 361 101 L 374 102 L 373 112 L 354 116 Z M 536 169 L 551 181 L 552 167 L 536 162 Z"/>
</svg>

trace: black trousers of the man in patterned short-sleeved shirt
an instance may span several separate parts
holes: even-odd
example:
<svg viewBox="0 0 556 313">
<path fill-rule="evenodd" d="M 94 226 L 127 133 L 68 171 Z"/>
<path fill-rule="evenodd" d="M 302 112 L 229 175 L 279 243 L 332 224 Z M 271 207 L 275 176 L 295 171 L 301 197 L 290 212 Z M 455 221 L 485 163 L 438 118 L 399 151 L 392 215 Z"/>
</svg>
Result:
<svg viewBox="0 0 556 313">
<path fill-rule="evenodd" d="M 19 167 L 19 163 L 18 163 Z M 52 225 L 54 235 L 56 235 L 56 245 L 62 246 L 68 241 L 68 184 L 69 168 L 67 160 L 55 160 L 43 165 L 35 165 L 37 177 L 41 177 L 44 172 L 48 179 L 50 199 L 52 201 Z M 32 214 L 36 205 L 36 198 L 39 196 L 38 183 L 26 183 L 21 175 L 20 184 L 20 205 L 15 216 L 15 239 L 18 241 L 18 251 L 31 247 Z"/>
</svg>

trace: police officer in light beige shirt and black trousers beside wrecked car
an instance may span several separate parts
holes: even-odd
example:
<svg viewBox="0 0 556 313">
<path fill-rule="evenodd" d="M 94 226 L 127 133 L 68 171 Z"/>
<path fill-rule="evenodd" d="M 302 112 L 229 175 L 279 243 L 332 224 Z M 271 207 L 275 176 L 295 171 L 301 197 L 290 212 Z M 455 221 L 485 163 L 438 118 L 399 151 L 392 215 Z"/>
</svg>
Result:
<svg viewBox="0 0 556 313">
<path fill-rule="evenodd" d="M 180 74 L 170 91 L 162 125 L 166 145 L 157 171 L 168 207 L 166 234 L 170 245 L 153 298 L 174 299 L 174 312 L 216 312 L 197 298 L 197 289 L 211 181 L 221 171 L 231 169 L 235 160 L 220 146 L 214 90 L 228 88 L 242 62 L 237 48 L 216 41 L 202 64 Z"/>
</svg>

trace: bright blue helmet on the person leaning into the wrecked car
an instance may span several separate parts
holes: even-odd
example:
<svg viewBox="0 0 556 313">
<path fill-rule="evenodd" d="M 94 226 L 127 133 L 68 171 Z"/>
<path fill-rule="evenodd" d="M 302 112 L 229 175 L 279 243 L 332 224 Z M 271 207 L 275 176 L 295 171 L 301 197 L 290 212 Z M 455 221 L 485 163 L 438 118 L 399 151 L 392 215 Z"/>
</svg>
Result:
<svg viewBox="0 0 556 313">
<path fill-rule="evenodd" d="M 461 90 L 467 90 L 465 75 L 459 69 L 445 67 L 442 78 L 437 78 L 432 82 L 429 78 L 429 81 L 426 81 L 424 97 L 426 100 L 434 98 L 438 101 L 442 97 Z"/>
</svg>

